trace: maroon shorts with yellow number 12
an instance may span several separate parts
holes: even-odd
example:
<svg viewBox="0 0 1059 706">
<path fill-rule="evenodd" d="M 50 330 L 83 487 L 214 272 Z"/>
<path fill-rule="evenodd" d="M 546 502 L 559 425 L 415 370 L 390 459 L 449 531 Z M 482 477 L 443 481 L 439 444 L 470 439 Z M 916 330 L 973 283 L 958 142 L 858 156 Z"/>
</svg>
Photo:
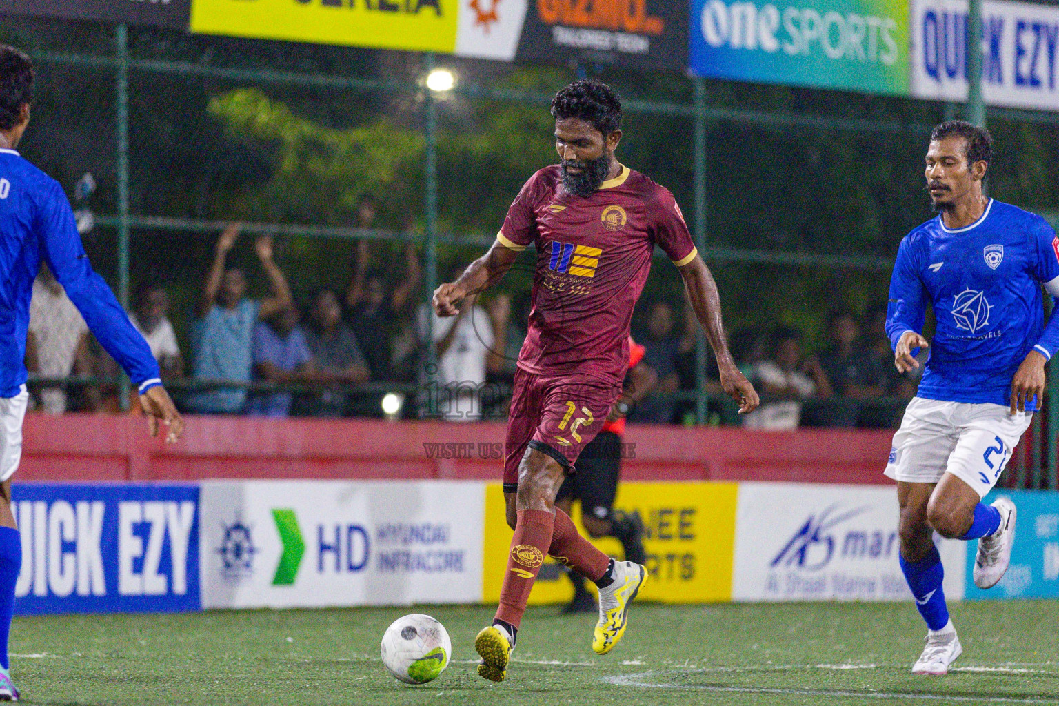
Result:
<svg viewBox="0 0 1059 706">
<path fill-rule="evenodd" d="M 507 414 L 504 491 L 518 487 L 526 447 L 546 453 L 573 474 L 574 461 L 599 433 L 621 392 L 621 385 L 598 378 L 544 377 L 518 368 Z"/>
</svg>

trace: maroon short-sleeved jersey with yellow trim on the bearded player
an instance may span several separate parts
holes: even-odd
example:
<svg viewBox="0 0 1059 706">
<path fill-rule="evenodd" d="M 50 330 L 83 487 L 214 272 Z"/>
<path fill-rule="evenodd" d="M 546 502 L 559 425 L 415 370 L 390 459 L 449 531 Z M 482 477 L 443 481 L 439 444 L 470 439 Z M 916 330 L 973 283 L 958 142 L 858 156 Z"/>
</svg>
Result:
<svg viewBox="0 0 1059 706">
<path fill-rule="evenodd" d="M 558 165 L 544 167 L 522 187 L 497 238 L 511 250 L 537 248 L 519 367 L 618 385 L 654 246 L 678 267 L 697 254 L 672 194 L 627 166 L 588 198 L 562 186 Z"/>
</svg>

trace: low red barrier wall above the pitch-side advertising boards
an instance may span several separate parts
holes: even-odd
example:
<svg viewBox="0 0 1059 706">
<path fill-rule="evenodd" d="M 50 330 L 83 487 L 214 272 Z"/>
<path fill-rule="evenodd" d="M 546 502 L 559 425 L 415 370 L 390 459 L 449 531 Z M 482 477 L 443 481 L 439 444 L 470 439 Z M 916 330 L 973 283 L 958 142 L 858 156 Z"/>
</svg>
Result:
<svg viewBox="0 0 1059 706">
<path fill-rule="evenodd" d="M 138 417 L 25 419 L 19 481 L 203 478 L 499 479 L 504 424 L 187 417 L 166 446 Z M 635 481 L 890 483 L 893 432 L 630 424 L 623 475 Z"/>
</svg>

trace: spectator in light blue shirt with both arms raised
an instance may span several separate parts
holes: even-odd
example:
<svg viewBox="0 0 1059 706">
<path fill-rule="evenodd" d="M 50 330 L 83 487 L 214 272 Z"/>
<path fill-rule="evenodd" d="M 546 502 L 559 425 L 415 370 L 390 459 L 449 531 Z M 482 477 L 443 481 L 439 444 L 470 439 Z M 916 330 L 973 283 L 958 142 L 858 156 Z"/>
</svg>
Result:
<svg viewBox="0 0 1059 706">
<path fill-rule="evenodd" d="M 272 258 L 272 238 L 261 236 L 254 243 L 262 269 L 268 276 L 272 295 L 255 301 L 246 296 L 243 270 L 227 267 L 228 253 L 239 237 L 239 225 L 228 227 L 217 239 L 213 267 L 202 288 L 198 320 L 192 334 L 195 342 L 195 377 L 199 380 L 249 382 L 252 366 L 251 339 L 254 325 L 293 307 L 290 289 Z M 204 414 L 239 414 L 246 406 L 241 387 L 209 390 L 192 396 L 187 406 Z"/>
</svg>

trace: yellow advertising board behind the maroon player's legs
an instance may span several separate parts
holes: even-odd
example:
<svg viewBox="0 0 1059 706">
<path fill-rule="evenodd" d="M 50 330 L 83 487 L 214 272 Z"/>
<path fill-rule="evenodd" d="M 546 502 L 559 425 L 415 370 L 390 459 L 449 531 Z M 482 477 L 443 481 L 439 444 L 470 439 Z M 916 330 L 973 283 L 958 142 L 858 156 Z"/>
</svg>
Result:
<svg viewBox="0 0 1059 706">
<path fill-rule="evenodd" d="M 732 599 L 732 557 L 735 548 L 736 483 L 623 483 L 614 507 L 635 512 L 646 528 L 650 580 L 640 596 L 666 603 L 702 603 Z M 582 535 L 579 504 L 573 520 Z M 500 599 L 511 530 L 504 521 L 500 484 L 485 490 L 485 571 L 482 599 Z M 622 557 L 615 539 L 593 541 L 600 550 Z M 590 589 L 594 586 L 590 584 Z M 530 603 L 559 603 L 573 597 L 573 586 L 559 564 L 549 558 L 534 583 Z"/>
</svg>

